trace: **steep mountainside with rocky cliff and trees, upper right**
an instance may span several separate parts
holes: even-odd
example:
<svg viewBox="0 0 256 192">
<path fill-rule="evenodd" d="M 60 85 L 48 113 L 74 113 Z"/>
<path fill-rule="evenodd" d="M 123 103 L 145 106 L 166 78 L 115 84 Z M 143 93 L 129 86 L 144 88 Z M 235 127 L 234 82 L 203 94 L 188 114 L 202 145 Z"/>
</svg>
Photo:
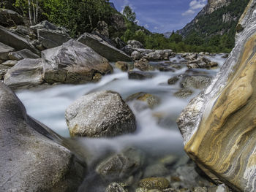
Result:
<svg viewBox="0 0 256 192">
<path fill-rule="evenodd" d="M 236 25 L 249 0 L 208 0 L 206 7 L 197 16 L 178 31 L 183 37 L 196 32 L 200 37 L 208 38 L 227 34 L 234 37 Z"/>
</svg>

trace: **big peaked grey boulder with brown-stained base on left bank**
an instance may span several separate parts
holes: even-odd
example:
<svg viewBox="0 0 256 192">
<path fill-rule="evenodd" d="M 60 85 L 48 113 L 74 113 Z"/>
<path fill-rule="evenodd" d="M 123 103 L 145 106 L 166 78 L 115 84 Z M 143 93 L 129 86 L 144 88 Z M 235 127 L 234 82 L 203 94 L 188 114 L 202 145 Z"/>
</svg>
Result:
<svg viewBox="0 0 256 192">
<path fill-rule="evenodd" d="M 98 74 L 113 72 L 108 60 L 73 39 L 59 47 L 42 51 L 46 82 L 91 82 Z"/>
</svg>

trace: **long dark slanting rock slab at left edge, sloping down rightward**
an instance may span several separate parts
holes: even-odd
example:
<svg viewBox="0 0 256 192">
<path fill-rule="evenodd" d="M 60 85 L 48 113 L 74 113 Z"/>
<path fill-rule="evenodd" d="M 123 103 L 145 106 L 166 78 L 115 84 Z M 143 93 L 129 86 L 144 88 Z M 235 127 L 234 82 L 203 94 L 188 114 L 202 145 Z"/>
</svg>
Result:
<svg viewBox="0 0 256 192">
<path fill-rule="evenodd" d="M 28 49 L 31 50 L 33 53 L 36 53 L 37 55 L 40 54 L 39 50 L 31 45 L 31 43 L 27 39 L 20 37 L 18 34 L 12 33 L 3 26 L 0 26 L 0 42 L 15 48 L 15 50 Z"/>
</svg>

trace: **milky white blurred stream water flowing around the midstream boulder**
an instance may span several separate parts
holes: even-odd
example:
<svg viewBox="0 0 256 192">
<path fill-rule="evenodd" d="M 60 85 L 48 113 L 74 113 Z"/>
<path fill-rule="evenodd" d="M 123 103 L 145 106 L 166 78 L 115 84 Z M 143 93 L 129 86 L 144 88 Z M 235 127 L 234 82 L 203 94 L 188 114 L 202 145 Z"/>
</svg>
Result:
<svg viewBox="0 0 256 192">
<path fill-rule="evenodd" d="M 208 56 L 211 61 L 217 61 L 219 67 L 225 62 L 222 55 Z M 172 61 L 181 62 L 176 57 Z M 151 65 L 159 64 L 151 63 Z M 187 99 L 179 99 L 173 93 L 180 90 L 180 82 L 175 85 L 168 85 L 167 80 L 187 71 L 187 66 L 176 69 L 176 72 L 153 71 L 154 77 L 147 80 L 129 80 L 127 72 L 121 72 L 114 68 L 113 74 L 102 77 L 97 83 L 86 85 L 55 85 L 44 90 L 18 91 L 18 97 L 23 102 L 29 115 L 45 123 L 46 126 L 56 131 L 63 137 L 69 137 L 69 131 L 64 118 L 64 112 L 73 101 L 86 93 L 94 91 L 116 91 L 125 100 L 134 93 L 145 92 L 159 97 L 160 104 L 151 110 L 147 107 L 140 107 L 141 101 L 128 101 L 129 107 L 135 113 L 137 120 L 137 131 L 111 139 L 77 139 L 80 145 L 86 147 L 91 155 L 89 159 L 97 161 L 101 154 L 107 151 L 120 151 L 124 147 L 138 147 L 148 154 L 147 158 L 161 157 L 167 154 L 177 156 L 184 155 L 181 134 L 176 125 L 176 118 L 186 107 L 189 100 L 195 97 L 199 90 L 193 90 L 192 96 Z M 196 69 L 197 73 L 208 74 L 214 77 L 219 71 L 216 69 Z M 192 71 L 193 72 L 193 71 Z"/>
</svg>

